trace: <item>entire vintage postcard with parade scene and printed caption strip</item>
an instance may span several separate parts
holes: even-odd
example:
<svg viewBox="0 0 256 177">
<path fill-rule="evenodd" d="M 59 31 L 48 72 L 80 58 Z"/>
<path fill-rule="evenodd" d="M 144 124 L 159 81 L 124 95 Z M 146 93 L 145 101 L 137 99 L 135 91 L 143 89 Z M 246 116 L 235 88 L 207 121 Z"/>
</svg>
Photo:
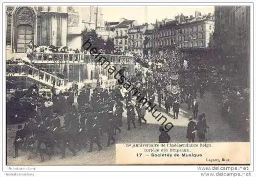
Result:
<svg viewBox="0 0 256 177">
<path fill-rule="evenodd" d="M 4 5 L 6 166 L 250 165 L 250 5 L 57 5 Z"/>
</svg>

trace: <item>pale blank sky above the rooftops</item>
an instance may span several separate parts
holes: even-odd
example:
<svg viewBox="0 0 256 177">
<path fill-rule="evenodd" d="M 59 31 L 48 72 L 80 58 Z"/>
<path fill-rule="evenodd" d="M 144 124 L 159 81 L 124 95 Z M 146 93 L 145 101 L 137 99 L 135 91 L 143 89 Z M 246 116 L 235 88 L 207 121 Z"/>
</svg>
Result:
<svg viewBox="0 0 256 177">
<path fill-rule="evenodd" d="M 119 21 L 120 18 L 137 20 L 139 24 L 145 22 L 145 6 L 103 6 L 104 21 Z M 156 19 L 174 19 L 178 14 L 195 16 L 195 11 L 204 14 L 214 13 L 214 6 L 147 6 L 147 22 L 155 23 Z"/>
</svg>

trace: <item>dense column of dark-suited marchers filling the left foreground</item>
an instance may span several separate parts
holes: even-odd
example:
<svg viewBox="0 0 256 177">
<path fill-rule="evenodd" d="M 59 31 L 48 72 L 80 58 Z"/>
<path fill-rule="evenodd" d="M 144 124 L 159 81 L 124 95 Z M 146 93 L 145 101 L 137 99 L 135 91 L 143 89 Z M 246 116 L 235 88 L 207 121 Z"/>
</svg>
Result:
<svg viewBox="0 0 256 177">
<path fill-rule="evenodd" d="M 101 150 L 100 136 L 104 134 L 108 136 L 106 146 L 110 146 L 111 142 L 115 143 L 116 131 L 121 132 L 119 127 L 123 126 L 124 108 L 127 109 L 127 130 L 131 130 L 131 123 L 136 128 L 135 110 L 139 117 L 138 124 L 142 124 L 141 120 L 146 122 L 145 106 L 134 107 L 128 102 L 123 107 L 121 86 L 109 89 L 99 86 L 92 93 L 89 87 L 84 86 L 79 94 L 76 84 L 58 94 L 54 87 L 52 93 L 38 94 L 35 86 L 31 92 L 26 92 L 26 97 L 30 98 L 27 103 L 32 109 L 27 109 L 31 111 L 23 115 L 28 117 L 25 125 L 18 125 L 14 141 L 15 157 L 18 157 L 18 149 L 28 151 L 29 158 L 39 152 L 41 161 L 45 160 L 45 155 L 51 158 L 58 151 L 61 158 L 65 158 L 66 149 L 75 156 L 76 150 L 86 148 L 88 144 L 88 152 L 93 150 L 94 143 Z M 74 97 L 77 98 L 78 108 L 73 104 Z M 14 116 L 19 118 L 18 114 Z M 63 126 L 58 115 L 64 116 Z"/>
</svg>

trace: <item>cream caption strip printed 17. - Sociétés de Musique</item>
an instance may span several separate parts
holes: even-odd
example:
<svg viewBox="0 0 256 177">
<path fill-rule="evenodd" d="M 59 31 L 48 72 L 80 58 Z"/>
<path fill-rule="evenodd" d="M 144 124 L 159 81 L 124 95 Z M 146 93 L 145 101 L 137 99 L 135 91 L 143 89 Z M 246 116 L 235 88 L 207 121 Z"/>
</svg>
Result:
<svg viewBox="0 0 256 177">
<path fill-rule="evenodd" d="M 249 142 L 116 144 L 116 164 L 250 164 Z"/>
</svg>

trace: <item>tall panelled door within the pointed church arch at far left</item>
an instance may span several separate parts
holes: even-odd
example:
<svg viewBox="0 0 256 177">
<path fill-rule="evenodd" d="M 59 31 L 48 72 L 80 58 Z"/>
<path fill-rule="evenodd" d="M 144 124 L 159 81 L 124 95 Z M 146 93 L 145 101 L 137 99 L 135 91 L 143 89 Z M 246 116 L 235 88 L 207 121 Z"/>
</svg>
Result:
<svg viewBox="0 0 256 177">
<path fill-rule="evenodd" d="M 21 24 L 17 27 L 16 52 L 26 53 L 29 42 L 32 40 L 32 27 L 29 24 Z"/>
</svg>

